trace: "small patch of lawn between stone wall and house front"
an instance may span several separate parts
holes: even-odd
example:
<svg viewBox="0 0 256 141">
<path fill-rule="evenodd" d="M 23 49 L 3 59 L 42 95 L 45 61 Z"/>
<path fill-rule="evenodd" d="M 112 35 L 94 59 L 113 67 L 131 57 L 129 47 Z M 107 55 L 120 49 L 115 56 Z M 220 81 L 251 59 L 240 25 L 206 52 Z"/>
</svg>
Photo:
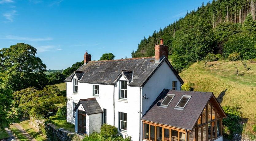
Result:
<svg viewBox="0 0 256 141">
<path fill-rule="evenodd" d="M 69 130 L 75 132 L 75 125 L 66 122 L 66 116 L 51 116 L 52 124 L 57 126 L 58 128 L 64 128 L 65 130 Z"/>
</svg>

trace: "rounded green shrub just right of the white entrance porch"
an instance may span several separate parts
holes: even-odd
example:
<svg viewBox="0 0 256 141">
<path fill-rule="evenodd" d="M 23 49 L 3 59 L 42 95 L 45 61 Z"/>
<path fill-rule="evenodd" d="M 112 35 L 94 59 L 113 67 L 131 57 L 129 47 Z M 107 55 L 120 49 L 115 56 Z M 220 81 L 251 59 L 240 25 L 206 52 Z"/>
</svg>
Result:
<svg viewBox="0 0 256 141">
<path fill-rule="evenodd" d="M 117 136 L 118 129 L 115 126 L 109 124 L 103 124 L 101 127 L 100 135 L 103 138 L 115 137 Z"/>
</svg>

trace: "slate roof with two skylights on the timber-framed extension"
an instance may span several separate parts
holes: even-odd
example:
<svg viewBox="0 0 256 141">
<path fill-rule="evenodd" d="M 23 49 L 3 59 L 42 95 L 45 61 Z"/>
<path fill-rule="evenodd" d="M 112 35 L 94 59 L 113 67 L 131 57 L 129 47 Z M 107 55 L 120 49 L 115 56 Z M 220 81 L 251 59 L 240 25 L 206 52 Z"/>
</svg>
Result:
<svg viewBox="0 0 256 141">
<path fill-rule="evenodd" d="M 175 96 L 170 104 L 164 108 L 161 107 L 160 104 L 167 94 L 175 94 Z M 174 109 L 177 103 L 180 101 L 182 95 L 191 96 L 188 104 L 183 110 Z M 150 106 L 148 111 L 142 116 L 142 120 L 192 130 L 200 114 L 203 112 L 204 107 L 212 97 L 215 98 L 211 92 L 176 91 L 164 89 Z M 160 102 L 159 105 L 157 105 L 158 102 Z M 219 104 L 217 101 L 216 103 Z M 223 114 L 223 117 L 224 116 L 226 116 L 225 113 Z"/>
</svg>

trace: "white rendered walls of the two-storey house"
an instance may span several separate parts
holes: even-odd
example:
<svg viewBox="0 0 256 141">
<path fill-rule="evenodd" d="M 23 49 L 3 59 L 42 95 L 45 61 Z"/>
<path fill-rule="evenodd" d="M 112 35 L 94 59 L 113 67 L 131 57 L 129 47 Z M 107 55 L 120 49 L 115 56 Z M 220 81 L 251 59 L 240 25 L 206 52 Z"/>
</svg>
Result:
<svg viewBox="0 0 256 141">
<path fill-rule="evenodd" d="M 76 78 L 76 76 L 74 76 L 74 78 Z M 126 79 L 122 76 L 119 78 L 119 80 Z M 128 135 L 132 137 L 132 140 L 142 140 L 142 122 L 140 120 L 142 115 L 147 111 L 149 106 L 158 97 L 163 89 L 172 89 L 173 81 L 177 81 L 177 90 L 180 90 L 180 80 L 176 77 L 176 75 L 173 73 L 173 70 L 166 62 L 161 64 L 161 66 L 156 70 L 156 72 L 142 88 L 127 85 L 126 101 L 119 100 L 119 80 L 117 81 L 116 85 L 78 82 L 78 93 L 73 93 L 73 80 L 72 82 L 66 82 L 68 98 L 67 121 L 69 123 L 75 124 L 75 118 L 72 115 L 73 102 L 78 103 L 80 99 L 96 97 L 93 96 L 93 85 L 99 85 L 99 97 L 96 97 L 96 100 L 98 101 L 102 110 L 107 109 L 107 124 L 114 125 L 118 127 L 119 130 L 118 113 L 127 113 L 127 131 L 119 130 L 119 132 L 123 135 L 123 137 Z M 144 95 L 146 95 L 147 99 L 143 98 Z M 98 130 L 99 125 L 91 125 L 94 124 L 95 121 L 90 122 L 92 116 L 89 116 L 88 128 L 94 126 L 94 128 L 97 128 Z M 99 116 L 96 118 L 99 119 Z M 101 119 L 99 120 L 102 121 Z M 90 130 L 91 129 L 87 130 L 89 131 L 88 133 L 91 133 Z"/>
</svg>

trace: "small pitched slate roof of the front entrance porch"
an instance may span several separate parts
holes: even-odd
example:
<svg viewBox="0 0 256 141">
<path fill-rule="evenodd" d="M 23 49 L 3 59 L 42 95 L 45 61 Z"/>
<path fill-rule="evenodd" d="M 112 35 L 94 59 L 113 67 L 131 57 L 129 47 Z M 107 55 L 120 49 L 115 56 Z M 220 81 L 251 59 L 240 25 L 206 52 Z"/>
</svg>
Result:
<svg viewBox="0 0 256 141">
<path fill-rule="evenodd" d="M 96 98 L 80 99 L 73 111 L 76 111 L 80 104 L 82 104 L 87 115 L 103 113 Z"/>
</svg>

